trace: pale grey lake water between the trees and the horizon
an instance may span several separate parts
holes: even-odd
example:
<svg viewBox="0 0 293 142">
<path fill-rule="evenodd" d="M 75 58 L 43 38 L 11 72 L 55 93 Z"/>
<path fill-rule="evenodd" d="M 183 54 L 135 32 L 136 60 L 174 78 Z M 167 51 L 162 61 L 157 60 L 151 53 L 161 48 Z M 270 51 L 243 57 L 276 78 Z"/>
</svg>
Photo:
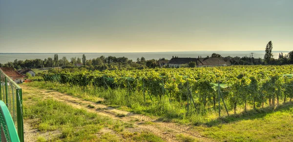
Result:
<svg viewBox="0 0 293 142">
<path fill-rule="evenodd" d="M 83 57 L 85 55 L 86 59 L 98 58 L 101 56 L 114 56 L 114 57 L 127 57 L 129 60 L 136 61 L 137 58 L 145 57 L 146 60 L 165 58 L 170 60 L 172 56 L 178 57 L 187 57 L 187 58 L 197 58 L 198 56 L 207 57 L 211 56 L 212 53 L 217 53 L 222 55 L 223 57 L 231 56 L 231 57 L 250 57 L 250 53 L 254 53 L 254 58 L 263 58 L 265 55 L 265 51 L 184 51 L 184 52 L 147 52 L 147 53 L 58 53 L 59 59 L 62 57 L 66 57 L 68 61 L 72 57 Z M 279 53 L 283 52 L 285 55 L 288 51 L 274 51 L 273 57 L 278 58 Z M 17 60 L 26 60 L 26 59 L 46 59 L 51 57 L 54 59 L 55 53 L 0 53 L 0 63 L 7 63 L 8 61 Z"/>
</svg>

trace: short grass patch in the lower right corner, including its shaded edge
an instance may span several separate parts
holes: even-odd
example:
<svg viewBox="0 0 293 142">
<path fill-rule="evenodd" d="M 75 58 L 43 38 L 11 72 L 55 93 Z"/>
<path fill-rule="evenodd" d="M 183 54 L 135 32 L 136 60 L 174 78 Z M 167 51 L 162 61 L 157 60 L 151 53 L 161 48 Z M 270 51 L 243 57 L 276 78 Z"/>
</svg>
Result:
<svg viewBox="0 0 293 142">
<path fill-rule="evenodd" d="M 195 131 L 216 141 L 228 142 L 292 142 L 293 103 L 274 110 L 267 107 L 195 126 Z"/>
</svg>

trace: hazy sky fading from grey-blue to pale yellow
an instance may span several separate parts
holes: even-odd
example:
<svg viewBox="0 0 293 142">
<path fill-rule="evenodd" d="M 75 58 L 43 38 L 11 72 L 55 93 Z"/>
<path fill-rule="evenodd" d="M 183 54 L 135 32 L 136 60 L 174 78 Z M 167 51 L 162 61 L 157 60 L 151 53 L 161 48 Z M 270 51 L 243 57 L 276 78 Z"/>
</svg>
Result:
<svg viewBox="0 0 293 142">
<path fill-rule="evenodd" d="M 0 0 L 0 52 L 293 50 L 293 0 Z"/>
</svg>

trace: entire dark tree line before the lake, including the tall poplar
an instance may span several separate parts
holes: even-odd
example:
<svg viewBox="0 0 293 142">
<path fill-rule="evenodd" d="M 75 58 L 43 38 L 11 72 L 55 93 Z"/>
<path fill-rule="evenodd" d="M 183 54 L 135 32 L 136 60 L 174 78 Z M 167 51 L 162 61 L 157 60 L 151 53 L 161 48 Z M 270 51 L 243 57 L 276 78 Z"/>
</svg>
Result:
<svg viewBox="0 0 293 142">
<path fill-rule="evenodd" d="M 270 41 L 265 49 L 265 56 L 263 59 L 255 59 L 252 56 L 247 57 L 222 57 L 220 54 L 213 53 L 211 58 L 221 57 L 224 61 L 230 61 L 232 65 L 284 65 L 293 64 L 293 51 L 284 55 L 279 53 L 278 59 L 274 59 L 272 55 L 272 41 Z M 207 57 L 209 58 L 209 57 Z M 166 60 L 165 58 L 160 58 L 160 60 Z M 82 58 L 70 58 L 67 60 L 66 57 L 59 59 L 58 54 L 54 54 L 54 58 L 47 59 L 33 59 L 33 60 L 15 60 L 9 61 L 5 64 L 0 63 L 0 67 L 14 67 L 15 69 L 22 68 L 51 68 L 51 67 L 63 67 L 63 68 L 77 68 L 83 66 L 88 70 L 116 70 L 116 69 L 143 69 L 143 68 L 155 68 L 159 67 L 158 60 L 151 59 L 146 60 L 144 57 L 137 58 L 136 61 L 129 60 L 126 57 L 113 57 L 113 56 L 101 56 L 94 59 L 86 60 L 85 55 Z M 195 62 L 189 62 L 185 66 L 181 67 L 196 67 Z"/>
</svg>

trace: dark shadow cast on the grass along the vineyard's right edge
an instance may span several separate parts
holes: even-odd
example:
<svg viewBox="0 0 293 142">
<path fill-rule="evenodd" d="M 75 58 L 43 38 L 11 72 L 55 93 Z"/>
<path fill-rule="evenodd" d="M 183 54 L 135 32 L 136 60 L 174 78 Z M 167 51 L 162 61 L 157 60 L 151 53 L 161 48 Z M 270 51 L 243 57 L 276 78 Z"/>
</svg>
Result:
<svg viewBox="0 0 293 142">
<path fill-rule="evenodd" d="M 204 123 L 206 126 L 211 127 L 219 124 L 225 124 L 230 122 L 238 122 L 242 120 L 254 120 L 263 118 L 268 114 L 272 114 L 274 112 L 284 112 L 286 110 L 289 110 L 293 107 L 293 101 L 291 102 L 285 102 L 281 105 L 276 106 L 275 108 L 272 106 L 268 106 L 265 108 L 260 108 L 256 110 L 249 110 L 247 112 L 242 112 L 240 114 L 232 114 L 229 117 L 222 117 L 218 118 L 216 120 L 209 121 L 207 123 Z"/>
</svg>

